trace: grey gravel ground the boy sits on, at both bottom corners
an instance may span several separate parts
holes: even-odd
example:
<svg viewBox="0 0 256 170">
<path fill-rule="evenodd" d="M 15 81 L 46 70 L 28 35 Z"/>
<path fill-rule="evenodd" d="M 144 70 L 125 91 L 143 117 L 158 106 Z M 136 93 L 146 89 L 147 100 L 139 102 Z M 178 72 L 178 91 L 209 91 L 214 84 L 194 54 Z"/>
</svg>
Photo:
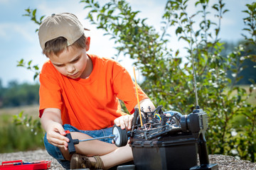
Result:
<svg viewBox="0 0 256 170">
<path fill-rule="evenodd" d="M 250 169 L 256 170 L 256 163 L 252 163 L 245 160 L 238 160 L 234 157 L 224 156 L 219 154 L 209 155 L 211 164 L 218 164 L 219 169 Z M 52 161 L 50 169 L 63 169 L 60 164 L 50 157 L 50 155 L 44 149 L 38 149 L 28 152 L 14 152 L 0 154 L 0 162 L 13 161 L 13 160 L 23 160 L 23 162 L 35 162 L 40 160 Z"/>
</svg>

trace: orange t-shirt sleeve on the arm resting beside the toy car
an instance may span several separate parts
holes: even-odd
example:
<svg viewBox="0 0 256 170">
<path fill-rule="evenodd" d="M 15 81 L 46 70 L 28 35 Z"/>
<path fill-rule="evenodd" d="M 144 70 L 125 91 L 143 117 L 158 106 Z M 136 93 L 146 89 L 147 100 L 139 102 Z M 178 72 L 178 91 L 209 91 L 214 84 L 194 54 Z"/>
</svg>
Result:
<svg viewBox="0 0 256 170">
<path fill-rule="evenodd" d="M 114 93 L 117 94 L 117 98 L 124 101 L 125 106 L 129 113 L 134 111 L 134 106 L 137 105 L 137 94 L 135 83 L 132 77 L 127 72 L 127 69 L 116 63 L 113 67 L 113 86 Z M 148 98 L 144 91 L 138 85 L 139 101 L 144 98 Z"/>
</svg>

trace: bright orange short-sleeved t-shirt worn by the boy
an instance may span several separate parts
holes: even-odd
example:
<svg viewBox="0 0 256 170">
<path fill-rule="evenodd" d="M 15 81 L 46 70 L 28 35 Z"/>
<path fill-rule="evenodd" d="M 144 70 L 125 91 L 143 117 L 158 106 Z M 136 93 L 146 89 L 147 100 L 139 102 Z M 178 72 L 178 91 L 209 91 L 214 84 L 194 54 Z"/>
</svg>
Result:
<svg viewBox="0 0 256 170">
<path fill-rule="evenodd" d="M 111 59 L 88 55 L 93 69 L 87 79 L 71 79 L 46 62 L 40 74 L 41 118 L 45 108 L 59 108 L 63 124 L 79 130 L 99 130 L 114 125 L 114 119 L 125 114 L 119 99 L 132 113 L 137 105 L 134 81 L 124 67 Z M 139 101 L 147 98 L 142 89 Z"/>
</svg>

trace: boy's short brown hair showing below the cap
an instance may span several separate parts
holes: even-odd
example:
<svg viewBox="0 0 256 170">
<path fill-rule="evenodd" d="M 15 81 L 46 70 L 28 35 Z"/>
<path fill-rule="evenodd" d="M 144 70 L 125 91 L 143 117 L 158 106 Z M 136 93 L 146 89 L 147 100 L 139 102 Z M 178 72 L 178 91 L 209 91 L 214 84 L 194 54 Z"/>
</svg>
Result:
<svg viewBox="0 0 256 170">
<path fill-rule="evenodd" d="M 83 34 L 78 40 L 76 40 L 73 45 L 77 48 L 85 48 L 86 47 L 86 38 Z M 47 57 L 50 55 L 58 55 L 59 52 L 65 50 L 68 47 L 68 40 L 64 37 L 58 37 L 53 40 L 49 40 L 46 42 L 45 48 L 43 49 L 43 54 Z"/>
</svg>

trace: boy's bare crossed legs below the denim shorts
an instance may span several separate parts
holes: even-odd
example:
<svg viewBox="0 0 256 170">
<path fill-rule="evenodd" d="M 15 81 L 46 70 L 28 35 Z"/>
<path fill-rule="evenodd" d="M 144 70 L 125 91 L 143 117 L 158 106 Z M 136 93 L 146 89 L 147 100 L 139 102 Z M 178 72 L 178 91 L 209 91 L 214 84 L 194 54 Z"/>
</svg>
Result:
<svg viewBox="0 0 256 170">
<path fill-rule="evenodd" d="M 71 132 L 73 139 L 86 140 L 90 139 L 89 135 L 86 135 L 81 132 Z M 107 142 L 102 142 L 100 140 L 92 140 L 87 142 L 80 142 L 78 145 L 75 145 L 76 153 L 85 155 L 87 157 L 92 157 L 95 155 L 101 156 L 102 162 L 105 169 L 109 169 L 112 166 L 122 164 L 124 162 L 132 161 L 132 148 L 129 145 L 125 147 L 116 147 L 114 144 Z M 68 151 L 63 148 L 60 148 L 60 151 L 65 157 L 66 160 L 70 160 L 71 156 Z M 90 158 L 94 161 L 94 158 Z"/>
</svg>

